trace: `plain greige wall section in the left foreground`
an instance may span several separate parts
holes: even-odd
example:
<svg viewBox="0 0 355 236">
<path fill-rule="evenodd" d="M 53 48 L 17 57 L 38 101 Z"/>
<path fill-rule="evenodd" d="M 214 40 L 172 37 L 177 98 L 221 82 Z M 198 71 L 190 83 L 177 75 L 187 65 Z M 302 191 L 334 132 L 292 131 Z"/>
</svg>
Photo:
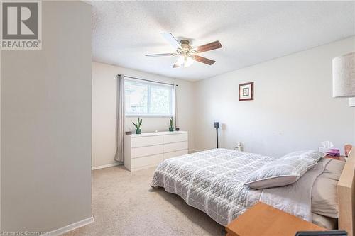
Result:
<svg viewBox="0 0 355 236">
<path fill-rule="evenodd" d="M 1 230 L 92 216 L 91 6 L 43 1 L 43 49 L 1 52 Z"/>
</svg>

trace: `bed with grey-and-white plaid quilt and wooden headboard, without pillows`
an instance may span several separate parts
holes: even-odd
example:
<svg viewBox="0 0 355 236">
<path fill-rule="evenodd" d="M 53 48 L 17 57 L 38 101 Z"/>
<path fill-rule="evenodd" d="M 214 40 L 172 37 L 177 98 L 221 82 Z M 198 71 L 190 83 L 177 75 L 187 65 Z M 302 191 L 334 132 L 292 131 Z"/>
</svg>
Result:
<svg viewBox="0 0 355 236">
<path fill-rule="evenodd" d="M 165 191 L 178 194 L 188 205 L 207 213 L 221 225 L 227 225 L 258 201 L 304 220 L 324 220 L 312 213 L 311 194 L 313 184 L 331 159 L 321 159 L 316 167 L 288 186 L 252 189 L 244 185 L 251 173 L 275 159 L 226 149 L 196 152 L 160 163 L 153 174 L 151 186 L 163 187 Z M 355 165 L 355 158 L 350 158 L 346 166 L 350 166 L 353 159 Z M 352 200 L 348 199 L 353 189 L 351 178 L 354 179 L 354 168 L 344 167 L 338 184 L 339 227 L 351 232 L 349 235 L 352 235 L 353 225 L 349 219 L 354 214 L 352 210 L 344 209 L 353 209 Z"/>
</svg>

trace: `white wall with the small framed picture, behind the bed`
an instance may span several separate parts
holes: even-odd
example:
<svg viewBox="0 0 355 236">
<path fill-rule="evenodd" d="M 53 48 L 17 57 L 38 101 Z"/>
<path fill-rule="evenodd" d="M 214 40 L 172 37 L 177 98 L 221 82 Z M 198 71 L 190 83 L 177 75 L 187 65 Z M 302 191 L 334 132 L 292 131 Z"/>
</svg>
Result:
<svg viewBox="0 0 355 236">
<path fill-rule="evenodd" d="M 354 142 L 354 108 L 332 98 L 332 58 L 355 50 L 347 38 L 195 83 L 195 148 L 243 142 L 247 152 L 283 155 L 331 140 Z M 238 52 L 236 52 L 238 53 Z M 254 82 L 254 101 L 238 101 L 238 84 Z"/>
</svg>

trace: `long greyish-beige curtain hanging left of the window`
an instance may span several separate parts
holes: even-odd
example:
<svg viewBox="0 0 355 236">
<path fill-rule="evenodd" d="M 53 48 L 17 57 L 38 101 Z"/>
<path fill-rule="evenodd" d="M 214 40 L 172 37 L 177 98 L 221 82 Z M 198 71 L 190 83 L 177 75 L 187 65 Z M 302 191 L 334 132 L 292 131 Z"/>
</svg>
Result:
<svg viewBox="0 0 355 236">
<path fill-rule="evenodd" d="M 116 154 L 117 162 L 124 162 L 124 75 L 117 75 L 117 113 L 116 113 Z"/>
</svg>

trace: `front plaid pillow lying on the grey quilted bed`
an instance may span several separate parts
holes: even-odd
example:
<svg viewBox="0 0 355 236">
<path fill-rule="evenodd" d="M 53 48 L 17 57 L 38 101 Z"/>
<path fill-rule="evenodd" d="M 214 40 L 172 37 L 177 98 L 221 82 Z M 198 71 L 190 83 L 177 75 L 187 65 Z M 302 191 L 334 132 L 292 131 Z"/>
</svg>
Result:
<svg viewBox="0 0 355 236">
<path fill-rule="evenodd" d="M 283 157 L 257 169 L 244 185 L 253 189 L 266 189 L 293 184 L 316 164 L 312 157 Z"/>
</svg>

